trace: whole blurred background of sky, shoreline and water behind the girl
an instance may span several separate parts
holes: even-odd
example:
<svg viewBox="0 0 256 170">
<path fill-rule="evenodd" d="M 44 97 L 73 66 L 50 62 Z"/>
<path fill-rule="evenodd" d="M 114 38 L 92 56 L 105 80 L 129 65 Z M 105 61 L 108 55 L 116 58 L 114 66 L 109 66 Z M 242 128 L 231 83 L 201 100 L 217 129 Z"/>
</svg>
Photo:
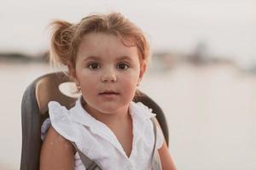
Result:
<svg viewBox="0 0 256 170">
<path fill-rule="evenodd" d="M 40 61 L 51 20 L 118 10 L 141 26 L 152 65 L 141 89 L 166 113 L 180 170 L 256 169 L 256 2 L 2 1 L 0 169 L 20 168 L 20 104 L 26 87 L 54 71 Z"/>
</svg>

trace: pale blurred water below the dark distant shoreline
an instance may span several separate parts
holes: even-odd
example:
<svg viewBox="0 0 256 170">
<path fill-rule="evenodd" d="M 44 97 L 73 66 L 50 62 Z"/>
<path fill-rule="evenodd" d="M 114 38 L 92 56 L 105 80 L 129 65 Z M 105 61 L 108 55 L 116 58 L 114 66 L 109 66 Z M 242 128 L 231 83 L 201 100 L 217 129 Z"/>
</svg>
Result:
<svg viewBox="0 0 256 170">
<path fill-rule="evenodd" d="M 22 94 L 51 71 L 44 63 L 0 62 L 0 169 L 20 168 Z M 149 68 L 140 89 L 166 113 L 177 169 L 256 169 L 256 75 L 229 63 L 180 63 Z"/>
</svg>

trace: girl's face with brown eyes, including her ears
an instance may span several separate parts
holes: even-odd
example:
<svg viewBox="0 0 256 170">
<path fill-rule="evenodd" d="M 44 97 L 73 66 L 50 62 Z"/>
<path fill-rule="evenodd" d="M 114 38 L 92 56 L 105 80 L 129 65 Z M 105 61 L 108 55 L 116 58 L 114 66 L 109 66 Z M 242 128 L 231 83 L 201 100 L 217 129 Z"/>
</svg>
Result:
<svg viewBox="0 0 256 170">
<path fill-rule="evenodd" d="M 69 69 L 81 88 L 85 109 L 114 114 L 128 111 L 146 64 L 140 62 L 137 48 L 126 47 L 119 37 L 89 33 L 79 46 L 75 68 Z"/>
</svg>

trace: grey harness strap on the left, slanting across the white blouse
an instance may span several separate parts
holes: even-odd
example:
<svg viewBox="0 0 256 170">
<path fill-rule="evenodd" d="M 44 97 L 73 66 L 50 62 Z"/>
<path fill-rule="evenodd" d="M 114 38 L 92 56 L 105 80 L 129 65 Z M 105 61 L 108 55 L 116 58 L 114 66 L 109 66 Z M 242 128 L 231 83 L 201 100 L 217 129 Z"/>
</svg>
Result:
<svg viewBox="0 0 256 170">
<path fill-rule="evenodd" d="M 79 156 L 86 170 L 102 170 L 102 167 L 100 165 L 98 165 L 95 161 L 91 161 L 88 156 L 85 156 L 84 153 L 81 150 L 79 150 L 77 144 L 75 144 L 74 142 L 72 142 L 72 144 L 75 147 L 75 149 L 79 152 Z"/>
</svg>

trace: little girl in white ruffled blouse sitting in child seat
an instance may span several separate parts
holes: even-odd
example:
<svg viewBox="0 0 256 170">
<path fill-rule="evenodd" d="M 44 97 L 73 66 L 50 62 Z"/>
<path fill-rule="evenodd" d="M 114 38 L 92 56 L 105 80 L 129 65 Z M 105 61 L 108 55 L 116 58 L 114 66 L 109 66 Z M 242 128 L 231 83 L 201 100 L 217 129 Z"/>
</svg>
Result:
<svg viewBox="0 0 256 170">
<path fill-rule="evenodd" d="M 143 31 L 118 13 L 53 26 L 50 57 L 67 65 L 82 95 L 70 110 L 49 102 L 40 169 L 84 170 L 83 153 L 103 170 L 148 170 L 154 144 L 162 169 L 175 169 L 159 125 L 154 143 L 154 114 L 132 101 L 149 57 Z"/>
</svg>

